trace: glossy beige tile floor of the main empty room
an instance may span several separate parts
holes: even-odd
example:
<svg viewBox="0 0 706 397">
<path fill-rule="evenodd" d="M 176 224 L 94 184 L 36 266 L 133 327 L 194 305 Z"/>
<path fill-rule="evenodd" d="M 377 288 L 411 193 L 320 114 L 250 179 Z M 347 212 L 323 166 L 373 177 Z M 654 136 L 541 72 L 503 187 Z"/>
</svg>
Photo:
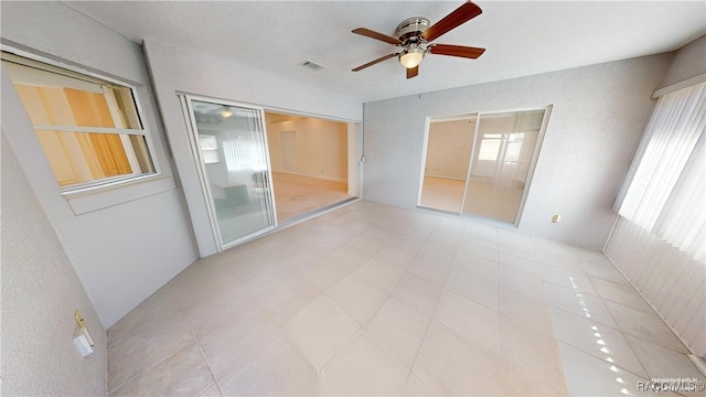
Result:
<svg viewBox="0 0 706 397">
<path fill-rule="evenodd" d="M 364 201 L 196 261 L 108 339 L 111 396 L 622 396 L 704 380 L 601 254 Z"/>
</svg>

